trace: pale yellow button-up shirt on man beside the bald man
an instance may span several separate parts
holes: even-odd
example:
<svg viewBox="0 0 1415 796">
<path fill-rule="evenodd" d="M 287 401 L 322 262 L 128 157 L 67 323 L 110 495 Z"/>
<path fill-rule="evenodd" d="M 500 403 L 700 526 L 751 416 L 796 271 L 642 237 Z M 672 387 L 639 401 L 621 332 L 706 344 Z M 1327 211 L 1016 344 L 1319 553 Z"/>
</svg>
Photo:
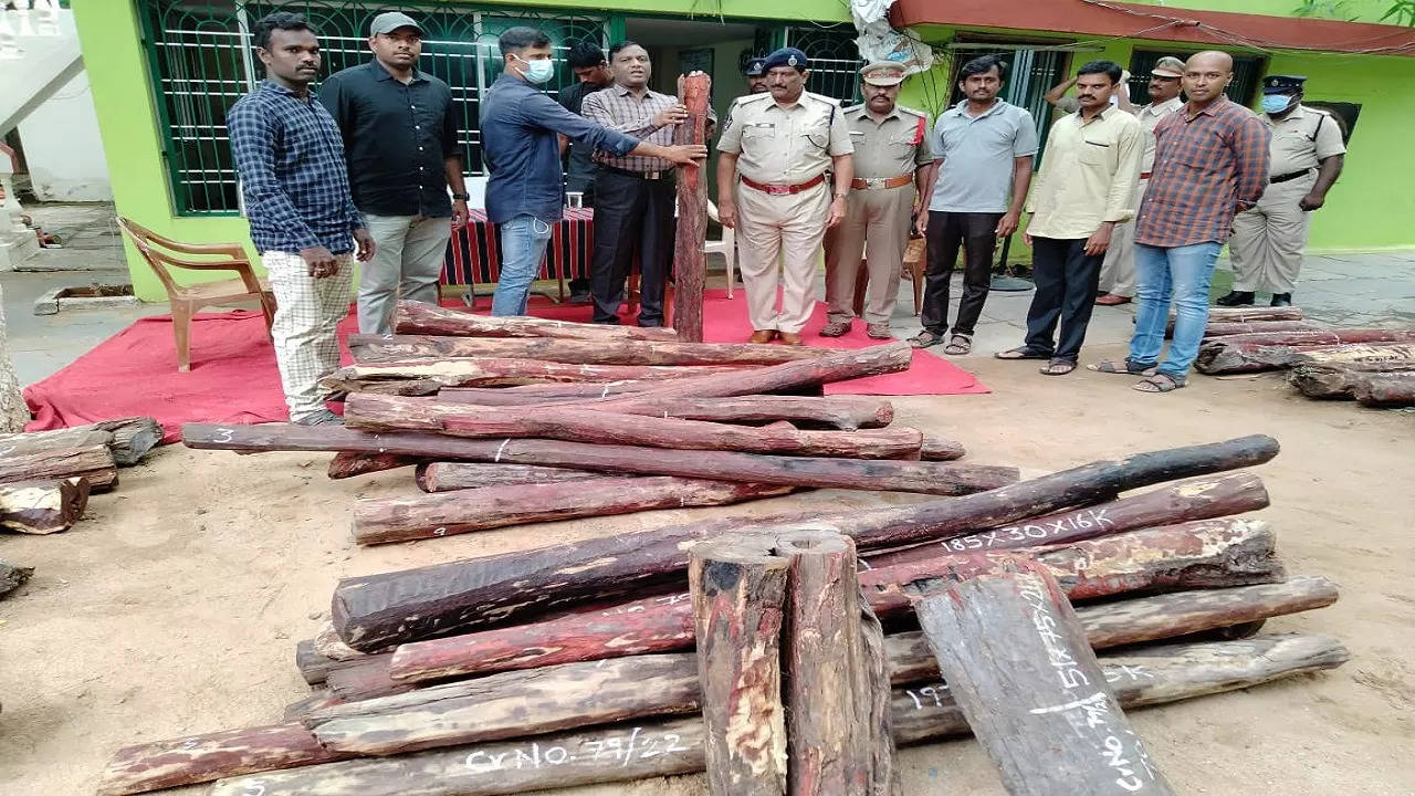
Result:
<svg viewBox="0 0 1415 796">
<path fill-rule="evenodd" d="M 1135 184 L 1145 129 L 1135 116 L 1107 108 L 1090 122 L 1071 113 L 1051 125 L 1041 171 L 1032 187 L 1027 234 L 1090 238 L 1102 222 L 1135 217 Z"/>
</svg>

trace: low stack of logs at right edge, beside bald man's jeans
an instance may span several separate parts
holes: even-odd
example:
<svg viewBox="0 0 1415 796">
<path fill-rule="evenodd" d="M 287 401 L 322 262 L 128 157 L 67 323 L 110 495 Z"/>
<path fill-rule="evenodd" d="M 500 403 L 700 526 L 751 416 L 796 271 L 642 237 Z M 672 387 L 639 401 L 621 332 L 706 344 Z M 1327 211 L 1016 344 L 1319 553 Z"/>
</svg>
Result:
<svg viewBox="0 0 1415 796">
<path fill-rule="evenodd" d="M 1415 405 L 1415 330 L 1329 329 L 1298 307 L 1211 309 L 1194 367 L 1210 375 L 1290 370 L 1309 398 Z"/>
</svg>

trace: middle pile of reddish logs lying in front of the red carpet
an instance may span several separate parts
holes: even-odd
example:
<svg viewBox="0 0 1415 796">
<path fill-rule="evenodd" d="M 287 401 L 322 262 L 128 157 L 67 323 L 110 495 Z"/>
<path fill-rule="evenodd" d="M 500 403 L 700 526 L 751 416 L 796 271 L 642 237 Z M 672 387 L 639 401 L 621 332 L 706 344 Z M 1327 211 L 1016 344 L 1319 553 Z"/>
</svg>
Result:
<svg viewBox="0 0 1415 796">
<path fill-rule="evenodd" d="M 409 487 L 420 491 L 355 506 L 365 545 L 818 487 L 969 494 L 1017 480 L 1015 467 L 958 463 L 959 443 L 893 425 L 883 398 L 821 395 L 908 368 L 906 343 L 681 343 L 409 302 L 396 322 L 399 334 L 354 336 L 355 364 L 325 381 L 345 395 L 344 428 L 188 425 L 183 440 L 331 450 L 331 477 L 416 466 Z"/>
</svg>

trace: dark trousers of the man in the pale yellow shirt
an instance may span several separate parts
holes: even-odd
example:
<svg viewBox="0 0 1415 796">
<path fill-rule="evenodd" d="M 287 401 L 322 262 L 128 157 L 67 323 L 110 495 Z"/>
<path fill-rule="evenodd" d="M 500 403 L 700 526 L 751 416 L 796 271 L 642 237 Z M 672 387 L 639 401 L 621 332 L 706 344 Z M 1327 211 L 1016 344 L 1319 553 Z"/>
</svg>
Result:
<svg viewBox="0 0 1415 796">
<path fill-rule="evenodd" d="M 1032 238 L 1032 282 L 1037 292 L 1027 309 L 1027 351 L 1074 363 L 1095 307 L 1105 255 L 1087 255 L 1087 238 Z M 1057 323 L 1061 339 L 1053 341 Z"/>
</svg>

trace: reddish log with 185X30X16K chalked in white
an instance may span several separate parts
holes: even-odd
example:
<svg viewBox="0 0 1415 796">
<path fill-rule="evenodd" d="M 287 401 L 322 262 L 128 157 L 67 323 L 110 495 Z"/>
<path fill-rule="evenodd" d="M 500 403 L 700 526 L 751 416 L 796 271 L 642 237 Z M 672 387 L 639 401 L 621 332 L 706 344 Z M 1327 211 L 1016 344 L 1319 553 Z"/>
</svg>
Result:
<svg viewBox="0 0 1415 796">
<path fill-rule="evenodd" d="M 893 567 L 928 561 L 945 552 L 982 552 L 1051 544 L 1068 544 L 1189 520 L 1228 517 L 1268 507 L 1268 490 L 1252 473 L 1221 473 L 1170 484 L 1165 489 L 1046 517 L 1027 518 L 976 534 L 918 547 L 867 554 L 867 567 Z"/>
</svg>

